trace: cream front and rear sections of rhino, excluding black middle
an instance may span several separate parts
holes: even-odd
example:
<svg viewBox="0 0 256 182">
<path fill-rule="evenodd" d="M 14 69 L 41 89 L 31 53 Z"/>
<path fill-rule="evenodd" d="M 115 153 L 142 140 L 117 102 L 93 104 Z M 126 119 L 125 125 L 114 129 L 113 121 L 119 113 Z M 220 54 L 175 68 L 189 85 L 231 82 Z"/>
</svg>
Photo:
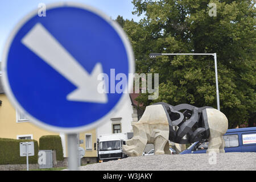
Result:
<svg viewBox="0 0 256 182">
<path fill-rule="evenodd" d="M 207 119 L 210 130 L 207 152 L 225 152 L 225 142 L 222 136 L 228 130 L 228 119 L 217 109 L 207 108 Z M 169 123 L 162 105 L 146 107 L 142 118 L 133 122 L 134 137 L 123 145 L 123 151 L 128 156 L 142 155 L 147 143 L 155 146 L 155 155 L 171 154 L 169 150 Z"/>
</svg>

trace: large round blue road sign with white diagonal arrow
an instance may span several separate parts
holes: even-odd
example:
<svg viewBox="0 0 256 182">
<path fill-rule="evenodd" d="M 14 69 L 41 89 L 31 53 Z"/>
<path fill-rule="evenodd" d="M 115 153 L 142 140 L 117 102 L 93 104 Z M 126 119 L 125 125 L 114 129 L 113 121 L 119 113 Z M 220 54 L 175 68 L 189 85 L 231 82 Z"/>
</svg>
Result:
<svg viewBox="0 0 256 182">
<path fill-rule="evenodd" d="M 46 16 L 35 10 L 22 19 L 7 40 L 2 64 L 14 106 L 36 125 L 65 133 L 97 127 L 122 104 L 124 93 L 98 92 L 98 75 L 134 73 L 122 28 L 77 3 L 49 5 Z"/>
</svg>

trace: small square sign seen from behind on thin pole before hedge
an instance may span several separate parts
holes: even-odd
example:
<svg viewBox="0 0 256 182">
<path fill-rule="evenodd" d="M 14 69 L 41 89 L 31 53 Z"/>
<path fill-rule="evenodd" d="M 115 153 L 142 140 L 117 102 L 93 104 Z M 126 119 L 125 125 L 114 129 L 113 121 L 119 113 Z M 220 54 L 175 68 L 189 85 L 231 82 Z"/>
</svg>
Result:
<svg viewBox="0 0 256 182">
<path fill-rule="evenodd" d="M 27 158 L 27 171 L 28 171 L 28 156 L 34 156 L 34 142 L 20 142 L 19 143 L 19 155 Z"/>
</svg>

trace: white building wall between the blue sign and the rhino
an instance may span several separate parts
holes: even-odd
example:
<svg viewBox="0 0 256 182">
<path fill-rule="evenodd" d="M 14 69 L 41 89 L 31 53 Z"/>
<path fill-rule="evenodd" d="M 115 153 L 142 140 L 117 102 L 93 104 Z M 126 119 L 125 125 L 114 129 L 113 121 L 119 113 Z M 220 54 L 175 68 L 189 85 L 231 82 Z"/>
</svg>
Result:
<svg viewBox="0 0 256 182">
<path fill-rule="evenodd" d="M 125 101 L 123 101 L 123 104 L 121 107 L 115 109 L 114 114 L 112 115 L 112 118 L 122 118 L 121 123 L 121 131 L 122 133 L 127 133 L 132 131 L 131 122 L 133 121 L 133 106 L 131 105 L 131 100 L 129 97 L 129 94 L 125 94 Z M 112 127 L 113 123 L 118 123 L 118 121 L 112 121 L 109 119 L 109 121 L 105 121 L 101 124 L 100 127 L 97 127 L 96 133 L 97 138 L 98 136 L 102 134 L 112 134 Z"/>
</svg>

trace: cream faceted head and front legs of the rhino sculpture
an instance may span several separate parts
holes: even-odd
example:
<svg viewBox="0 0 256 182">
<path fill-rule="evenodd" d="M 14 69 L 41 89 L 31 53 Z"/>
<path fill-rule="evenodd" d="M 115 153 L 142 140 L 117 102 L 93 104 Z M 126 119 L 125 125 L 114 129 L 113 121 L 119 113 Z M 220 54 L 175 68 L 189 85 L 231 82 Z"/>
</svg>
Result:
<svg viewBox="0 0 256 182">
<path fill-rule="evenodd" d="M 133 138 L 126 141 L 124 152 L 129 156 L 142 155 L 147 143 L 155 146 L 155 154 L 171 154 L 169 150 L 169 123 L 162 105 L 146 107 L 141 119 L 133 122 Z"/>
</svg>

